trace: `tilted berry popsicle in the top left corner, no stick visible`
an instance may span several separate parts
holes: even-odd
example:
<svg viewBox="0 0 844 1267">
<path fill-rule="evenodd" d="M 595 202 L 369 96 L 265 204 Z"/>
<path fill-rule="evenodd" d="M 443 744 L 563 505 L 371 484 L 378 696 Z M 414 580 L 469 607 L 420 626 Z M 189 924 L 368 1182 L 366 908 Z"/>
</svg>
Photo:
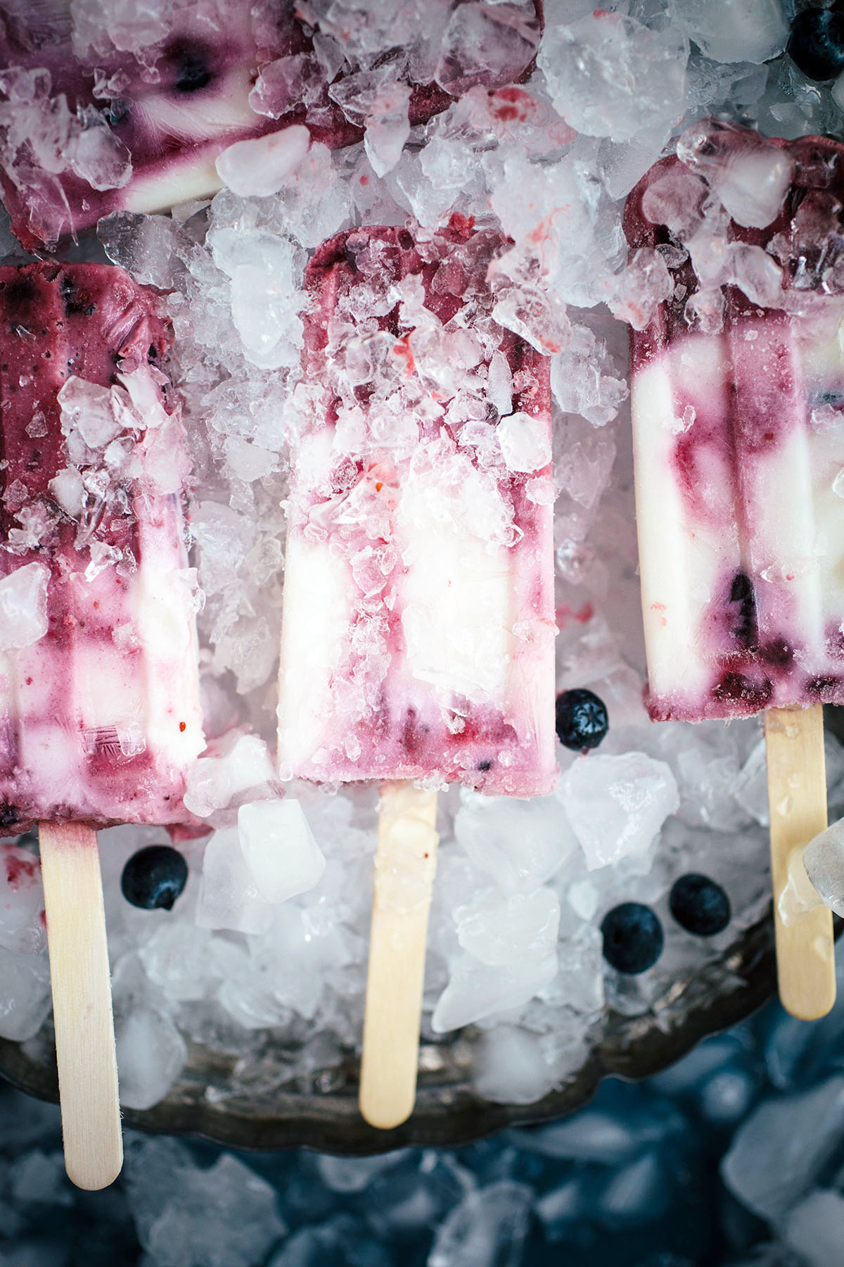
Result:
<svg viewBox="0 0 844 1267">
<path fill-rule="evenodd" d="M 440 24 L 459 6 L 445 4 Z M 485 8 L 471 3 L 464 11 Z M 358 118 L 349 122 L 328 92 L 352 68 L 342 41 L 315 43 L 314 9 L 306 22 L 289 0 L 166 6 L 139 20 L 137 47 L 124 29 L 115 48 L 75 6 L 47 3 L 34 20 L 29 5 L 0 0 L 0 186 L 22 243 L 37 250 L 110 212 L 166 210 L 215 194 L 223 188 L 216 160 L 239 141 L 302 124 L 330 148 L 361 141 Z M 396 72 L 411 124 L 444 110 L 472 82 L 497 87 L 530 73 L 539 0 L 488 13 L 500 52 L 482 70 L 453 63 L 445 48 L 439 79 L 447 86 Z M 123 19 L 125 27 L 128 11 Z M 330 37 L 325 16 L 321 25 Z M 471 23 L 466 47 L 475 47 Z"/>
</svg>

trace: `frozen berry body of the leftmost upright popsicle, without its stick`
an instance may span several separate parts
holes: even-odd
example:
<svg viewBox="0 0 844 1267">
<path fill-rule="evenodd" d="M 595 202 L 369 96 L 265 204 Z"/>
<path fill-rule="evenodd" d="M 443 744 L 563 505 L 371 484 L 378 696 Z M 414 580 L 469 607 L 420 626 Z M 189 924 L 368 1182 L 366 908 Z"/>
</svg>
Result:
<svg viewBox="0 0 844 1267">
<path fill-rule="evenodd" d="M 47 618 L 23 646 L 9 617 L 0 622 L 8 831 L 33 820 L 190 821 L 185 772 L 204 740 L 185 584 L 187 465 L 159 369 L 170 333 L 158 303 L 120 269 L 0 269 L 0 584 L 34 566 Z M 89 384 L 82 393 L 114 389 L 125 411 L 108 457 L 63 431 L 59 392 L 75 380 Z"/>
</svg>

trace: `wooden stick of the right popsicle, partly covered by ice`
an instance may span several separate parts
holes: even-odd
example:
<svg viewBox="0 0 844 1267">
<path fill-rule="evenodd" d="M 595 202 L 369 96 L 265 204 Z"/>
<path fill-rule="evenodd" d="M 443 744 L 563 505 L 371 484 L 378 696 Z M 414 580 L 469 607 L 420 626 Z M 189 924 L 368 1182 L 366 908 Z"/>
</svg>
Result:
<svg viewBox="0 0 844 1267">
<path fill-rule="evenodd" d="M 835 1002 L 833 914 L 816 906 L 786 925 L 778 903 L 790 870 L 804 870 L 804 849 L 826 827 L 822 706 L 768 710 L 764 737 L 779 1000 L 792 1016 L 812 1021 Z"/>
</svg>

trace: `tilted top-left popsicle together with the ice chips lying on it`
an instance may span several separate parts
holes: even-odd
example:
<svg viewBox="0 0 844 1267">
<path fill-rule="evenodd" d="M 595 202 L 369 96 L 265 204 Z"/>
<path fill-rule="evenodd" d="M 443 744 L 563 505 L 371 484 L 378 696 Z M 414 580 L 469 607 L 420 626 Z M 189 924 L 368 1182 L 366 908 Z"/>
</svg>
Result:
<svg viewBox="0 0 844 1267">
<path fill-rule="evenodd" d="M 390 4 L 380 22 L 364 5 L 351 23 L 321 0 L 30 10 L 0 0 L 0 185 L 29 250 L 229 180 L 238 194 L 275 193 L 311 139 L 366 138 L 386 170 L 410 127 L 468 85 L 529 75 L 542 29 L 538 0 Z M 362 91 L 361 77 L 381 90 Z"/>
</svg>

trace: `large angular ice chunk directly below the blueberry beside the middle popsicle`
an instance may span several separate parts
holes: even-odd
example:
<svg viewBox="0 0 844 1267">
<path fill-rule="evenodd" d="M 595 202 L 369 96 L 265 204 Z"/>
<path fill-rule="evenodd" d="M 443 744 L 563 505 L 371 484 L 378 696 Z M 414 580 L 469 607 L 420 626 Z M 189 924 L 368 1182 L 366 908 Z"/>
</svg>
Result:
<svg viewBox="0 0 844 1267">
<path fill-rule="evenodd" d="M 590 870 L 643 854 L 680 808 L 671 768 L 645 753 L 580 758 L 563 775 L 561 796 Z"/>
</svg>

